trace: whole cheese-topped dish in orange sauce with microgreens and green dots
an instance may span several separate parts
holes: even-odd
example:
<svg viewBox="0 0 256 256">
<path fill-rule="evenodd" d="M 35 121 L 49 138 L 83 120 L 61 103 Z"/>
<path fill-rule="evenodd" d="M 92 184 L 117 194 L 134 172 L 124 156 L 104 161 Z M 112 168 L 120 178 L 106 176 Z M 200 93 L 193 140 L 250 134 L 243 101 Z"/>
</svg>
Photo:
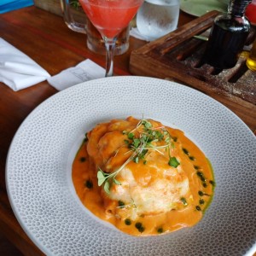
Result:
<svg viewBox="0 0 256 256">
<path fill-rule="evenodd" d="M 133 236 L 195 225 L 214 187 L 209 161 L 183 131 L 133 117 L 88 132 L 72 175 L 84 206 Z"/>
</svg>

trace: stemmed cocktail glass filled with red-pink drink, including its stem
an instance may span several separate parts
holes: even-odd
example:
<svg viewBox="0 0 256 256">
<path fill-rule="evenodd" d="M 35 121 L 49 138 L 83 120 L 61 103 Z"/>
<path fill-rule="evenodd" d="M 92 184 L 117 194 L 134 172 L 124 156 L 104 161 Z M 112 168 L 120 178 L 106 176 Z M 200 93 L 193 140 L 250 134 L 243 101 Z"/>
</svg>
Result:
<svg viewBox="0 0 256 256">
<path fill-rule="evenodd" d="M 106 77 L 113 76 L 113 51 L 119 32 L 136 15 L 143 0 L 79 0 L 85 14 L 101 33 L 107 50 Z"/>
</svg>

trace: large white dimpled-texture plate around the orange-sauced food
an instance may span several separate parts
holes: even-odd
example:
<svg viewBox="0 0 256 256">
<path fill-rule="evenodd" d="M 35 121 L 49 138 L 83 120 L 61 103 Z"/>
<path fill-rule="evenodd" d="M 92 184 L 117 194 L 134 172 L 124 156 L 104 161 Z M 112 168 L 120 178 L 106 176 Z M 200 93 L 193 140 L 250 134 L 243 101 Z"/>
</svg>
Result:
<svg viewBox="0 0 256 256">
<path fill-rule="evenodd" d="M 91 216 L 71 164 L 85 131 L 129 115 L 183 130 L 212 161 L 211 206 L 193 228 L 133 237 Z M 241 255 L 255 249 L 256 139 L 241 119 L 197 90 L 161 79 L 113 77 L 73 86 L 36 108 L 9 149 L 6 183 L 21 226 L 47 255 Z"/>
</svg>

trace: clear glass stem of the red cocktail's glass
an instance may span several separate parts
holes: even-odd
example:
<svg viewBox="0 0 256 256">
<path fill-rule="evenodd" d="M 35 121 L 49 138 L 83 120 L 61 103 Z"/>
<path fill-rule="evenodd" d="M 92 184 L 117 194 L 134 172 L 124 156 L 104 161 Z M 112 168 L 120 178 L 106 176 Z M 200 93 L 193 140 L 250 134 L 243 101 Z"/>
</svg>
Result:
<svg viewBox="0 0 256 256">
<path fill-rule="evenodd" d="M 106 74 L 105 77 L 112 77 L 113 76 L 113 54 L 115 49 L 115 42 L 117 37 L 115 38 L 106 38 L 103 37 L 105 42 L 105 47 L 107 49 L 107 61 L 106 61 Z"/>
</svg>

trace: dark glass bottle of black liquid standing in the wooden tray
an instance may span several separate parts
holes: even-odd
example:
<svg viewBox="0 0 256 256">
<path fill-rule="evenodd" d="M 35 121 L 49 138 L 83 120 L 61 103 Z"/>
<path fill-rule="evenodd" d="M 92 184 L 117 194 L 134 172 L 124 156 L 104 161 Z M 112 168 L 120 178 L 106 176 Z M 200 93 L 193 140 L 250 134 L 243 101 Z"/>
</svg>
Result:
<svg viewBox="0 0 256 256">
<path fill-rule="evenodd" d="M 250 32 L 250 22 L 244 16 L 252 0 L 230 0 L 228 13 L 218 15 L 213 23 L 204 61 L 212 67 L 234 67 Z"/>
</svg>

